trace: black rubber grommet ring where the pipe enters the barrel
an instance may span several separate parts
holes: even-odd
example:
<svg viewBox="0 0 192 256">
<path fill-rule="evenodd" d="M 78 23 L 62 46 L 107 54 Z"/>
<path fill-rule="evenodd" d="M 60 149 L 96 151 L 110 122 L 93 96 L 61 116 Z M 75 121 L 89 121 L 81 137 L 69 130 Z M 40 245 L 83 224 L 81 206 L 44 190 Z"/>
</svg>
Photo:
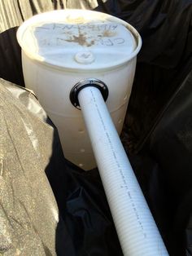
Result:
<svg viewBox="0 0 192 256">
<path fill-rule="evenodd" d="M 85 79 L 85 80 L 81 80 L 80 82 L 77 82 L 76 85 L 72 87 L 69 98 L 74 107 L 81 109 L 81 106 L 79 104 L 78 94 L 82 89 L 88 86 L 98 88 L 98 90 L 100 90 L 101 94 L 103 95 L 103 99 L 105 101 L 107 100 L 109 95 L 109 90 L 107 88 L 107 85 L 96 78 L 89 78 L 89 79 Z"/>
</svg>

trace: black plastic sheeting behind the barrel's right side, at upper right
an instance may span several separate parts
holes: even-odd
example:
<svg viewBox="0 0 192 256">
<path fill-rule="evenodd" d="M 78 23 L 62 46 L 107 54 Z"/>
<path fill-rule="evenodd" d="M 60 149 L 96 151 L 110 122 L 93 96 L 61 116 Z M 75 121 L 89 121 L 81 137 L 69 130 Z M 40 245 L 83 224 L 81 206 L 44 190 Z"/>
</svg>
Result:
<svg viewBox="0 0 192 256">
<path fill-rule="evenodd" d="M 125 124 L 129 149 L 142 148 L 172 94 L 192 68 L 192 1 L 98 1 L 105 11 L 129 22 L 142 37 Z M 130 130 L 129 130 L 130 134 Z"/>
</svg>

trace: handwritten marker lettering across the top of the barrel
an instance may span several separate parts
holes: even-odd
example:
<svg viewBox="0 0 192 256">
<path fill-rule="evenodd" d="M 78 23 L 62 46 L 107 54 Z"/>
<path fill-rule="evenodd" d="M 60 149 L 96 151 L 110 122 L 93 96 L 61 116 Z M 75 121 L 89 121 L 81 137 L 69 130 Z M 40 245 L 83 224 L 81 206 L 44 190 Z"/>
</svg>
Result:
<svg viewBox="0 0 192 256">
<path fill-rule="evenodd" d="M 121 26 L 121 28 L 120 28 Z M 121 24 L 41 24 L 33 28 L 39 46 L 120 46 L 124 45 Z M 125 29 L 125 27 L 124 27 Z M 121 31 L 121 32 L 120 32 Z"/>
</svg>

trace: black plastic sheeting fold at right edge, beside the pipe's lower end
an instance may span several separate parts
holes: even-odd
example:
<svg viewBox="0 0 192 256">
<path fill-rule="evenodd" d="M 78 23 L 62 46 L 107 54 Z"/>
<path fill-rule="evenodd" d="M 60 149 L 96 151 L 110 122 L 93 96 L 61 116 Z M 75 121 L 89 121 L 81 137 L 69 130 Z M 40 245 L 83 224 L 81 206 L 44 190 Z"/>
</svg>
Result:
<svg viewBox="0 0 192 256">
<path fill-rule="evenodd" d="M 155 216 L 164 219 L 160 226 L 167 234 L 171 255 L 185 255 L 185 249 L 192 255 L 191 88 L 192 71 L 172 95 L 149 139 L 151 153 L 161 168 L 155 189 L 155 179 L 151 179 L 152 208 Z"/>
</svg>

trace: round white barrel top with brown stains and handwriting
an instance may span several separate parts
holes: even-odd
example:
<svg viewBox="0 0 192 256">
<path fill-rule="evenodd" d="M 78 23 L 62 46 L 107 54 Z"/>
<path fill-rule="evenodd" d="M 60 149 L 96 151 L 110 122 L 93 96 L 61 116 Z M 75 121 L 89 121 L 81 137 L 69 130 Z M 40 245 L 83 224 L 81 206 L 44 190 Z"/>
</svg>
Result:
<svg viewBox="0 0 192 256">
<path fill-rule="evenodd" d="M 34 15 L 17 38 L 29 58 L 70 69 L 111 68 L 137 54 L 129 24 L 97 11 L 60 10 Z M 139 49 L 138 49 L 139 51 Z"/>
</svg>

